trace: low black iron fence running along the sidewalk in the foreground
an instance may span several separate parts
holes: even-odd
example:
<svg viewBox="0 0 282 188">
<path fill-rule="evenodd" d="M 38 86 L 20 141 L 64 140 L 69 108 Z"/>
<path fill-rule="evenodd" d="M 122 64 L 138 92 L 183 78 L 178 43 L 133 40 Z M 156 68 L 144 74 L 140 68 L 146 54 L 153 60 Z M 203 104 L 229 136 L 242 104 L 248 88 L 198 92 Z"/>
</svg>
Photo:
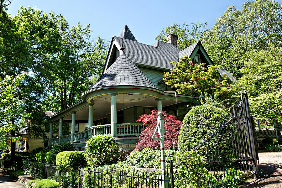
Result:
<svg viewBox="0 0 282 188">
<path fill-rule="evenodd" d="M 145 170 L 124 170 L 115 169 L 101 170 L 98 168 L 82 169 L 56 168 L 55 165 L 45 165 L 45 178 L 59 182 L 63 187 L 80 188 L 174 188 L 173 164 L 166 168 L 165 176 L 160 172 L 149 172 Z"/>
</svg>

